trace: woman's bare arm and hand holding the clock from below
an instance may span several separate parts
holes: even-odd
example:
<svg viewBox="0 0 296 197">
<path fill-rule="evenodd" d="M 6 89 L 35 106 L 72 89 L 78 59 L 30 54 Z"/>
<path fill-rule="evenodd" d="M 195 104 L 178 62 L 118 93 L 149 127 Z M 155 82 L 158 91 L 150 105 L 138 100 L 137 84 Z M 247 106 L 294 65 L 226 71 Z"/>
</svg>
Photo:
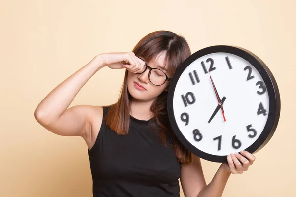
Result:
<svg viewBox="0 0 296 197">
<path fill-rule="evenodd" d="M 242 174 L 255 161 L 247 151 L 227 155 L 227 162 L 220 165 L 212 181 L 206 185 L 200 158 L 193 155 L 193 164 L 184 164 L 181 169 L 181 184 L 185 197 L 221 197 L 231 174 Z"/>
</svg>

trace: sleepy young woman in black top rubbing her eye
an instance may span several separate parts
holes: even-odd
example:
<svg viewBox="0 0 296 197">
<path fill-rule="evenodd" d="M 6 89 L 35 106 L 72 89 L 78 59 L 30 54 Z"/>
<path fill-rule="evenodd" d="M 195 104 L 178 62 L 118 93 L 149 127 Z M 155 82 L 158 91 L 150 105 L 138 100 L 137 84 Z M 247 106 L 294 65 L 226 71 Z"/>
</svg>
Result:
<svg viewBox="0 0 296 197">
<path fill-rule="evenodd" d="M 200 158 L 172 131 L 167 90 L 190 54 L 182 36 L 149 33 L 132 52 L 97 55 L 39 103 L 34 115 L 44 128 L 85 139 L 94 197 L 179 197 L 179 178 L 185 197 L 220 197 L 230 174 L 243 173 L 253 164 L 254 155 L 246 151 L 228 155 L 207 185 Z M 68 108 L 103 67 L 126 69 L 118 102 Z"/>
</svg>

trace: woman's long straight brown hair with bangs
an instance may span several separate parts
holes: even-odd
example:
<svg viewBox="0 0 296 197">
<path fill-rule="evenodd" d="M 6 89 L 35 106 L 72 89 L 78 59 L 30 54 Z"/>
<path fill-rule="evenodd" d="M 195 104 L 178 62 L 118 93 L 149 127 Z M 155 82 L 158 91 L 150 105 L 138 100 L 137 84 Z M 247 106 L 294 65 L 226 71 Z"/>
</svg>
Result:
<svg viewBox="0 0 296 197">
<path fill-rule="evenodd" d="M 181 63 L 191 55 L 189 45 L 181 35 L 170 31 L 156 31 L 143 37 L 134 47 L 133 52 L 137 57 L 144 58 L 147 62 L 155 60 L 157 55 L 166 52 L 166 64 L 168 66 L 168 75 L 173 76 Z M 121 88 L 118 101 L 111 105 L 109 112 L 105 117 L 106 125 L 119 135 L 125 135 L 129 129 L 130 103 L 132 96 L 127 90 L 126 70 L 124 82 Z M 179 141 L 169 123 L 167 114 L 167 91 L 163 91 L 152 103 L 150 111 L 153 113 L 152 121 L 154 128 L 158 128 L 158 136 L 163 145 L 166 145 L 166 138 L 172 141 L 172 148 L 176 157 L 181 163 L 191 163 L 192 155 Z"/>
</svg>

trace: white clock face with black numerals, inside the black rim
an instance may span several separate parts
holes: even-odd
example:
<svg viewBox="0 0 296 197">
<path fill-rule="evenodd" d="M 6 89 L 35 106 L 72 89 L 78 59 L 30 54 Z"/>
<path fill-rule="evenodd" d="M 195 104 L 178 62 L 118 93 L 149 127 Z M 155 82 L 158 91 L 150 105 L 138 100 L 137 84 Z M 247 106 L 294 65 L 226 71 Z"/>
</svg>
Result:
<svg viewBox="0 0 296 197">
<path fill-rule="evenodd" d="M 217 106 L 219 111 L 209 121 Z M 225 156 L 252 145 L 265 127 L 268 109 L 268 92 L 258 70 L 230 53 L 212 53 L 192 62 L 173 95 L 179 130 L 194 147 L 212 155 Z"/>
</svg>

